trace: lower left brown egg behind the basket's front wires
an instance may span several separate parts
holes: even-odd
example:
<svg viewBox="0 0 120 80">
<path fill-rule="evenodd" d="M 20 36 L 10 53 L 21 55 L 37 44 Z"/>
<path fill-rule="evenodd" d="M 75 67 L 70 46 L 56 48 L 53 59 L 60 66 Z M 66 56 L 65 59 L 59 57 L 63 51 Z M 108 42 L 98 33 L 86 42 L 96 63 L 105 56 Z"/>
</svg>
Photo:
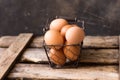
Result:
<svg viewBox="0 0 120 80">
<path fill-rule="evenodd" d="M 64 65 L 66 62 L 66 57 L 63 50 L 50 49 L 49 52 L 50 60 L 57 65 Z"/>
</svg>

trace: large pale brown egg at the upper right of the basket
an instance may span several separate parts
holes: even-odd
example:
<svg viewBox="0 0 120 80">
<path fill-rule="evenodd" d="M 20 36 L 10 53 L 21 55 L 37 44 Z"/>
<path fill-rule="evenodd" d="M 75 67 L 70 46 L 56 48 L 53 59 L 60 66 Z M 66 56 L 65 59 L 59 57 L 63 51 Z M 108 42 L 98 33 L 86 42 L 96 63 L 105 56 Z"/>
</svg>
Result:
<svg viewBox="0 0 120 80">
<path fill-rule="evenodd" d="M 80 42 L 83 41 L 85 36 L 84 30 L 77 25 L 74 27 L 69 28 L 66 31 L 65 38 L 67 42 L 71 44 L 79 44 Z"/>
</svg>

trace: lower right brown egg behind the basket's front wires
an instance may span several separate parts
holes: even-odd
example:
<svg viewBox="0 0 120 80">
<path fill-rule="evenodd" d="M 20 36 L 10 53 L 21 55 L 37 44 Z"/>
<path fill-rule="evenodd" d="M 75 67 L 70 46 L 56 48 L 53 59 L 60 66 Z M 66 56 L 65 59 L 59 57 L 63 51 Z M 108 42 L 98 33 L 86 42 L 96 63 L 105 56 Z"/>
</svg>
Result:
<svg viewBox="0 0 120 80">
<path fill-rule="evenodd" d="M 63 48 L 65 56 L 71 61 L 75 61 L 78 59 L 80 55 L 80 46 L 67 46 L 70 45 L 66 42 L 66 46 Z"/>
</svg>

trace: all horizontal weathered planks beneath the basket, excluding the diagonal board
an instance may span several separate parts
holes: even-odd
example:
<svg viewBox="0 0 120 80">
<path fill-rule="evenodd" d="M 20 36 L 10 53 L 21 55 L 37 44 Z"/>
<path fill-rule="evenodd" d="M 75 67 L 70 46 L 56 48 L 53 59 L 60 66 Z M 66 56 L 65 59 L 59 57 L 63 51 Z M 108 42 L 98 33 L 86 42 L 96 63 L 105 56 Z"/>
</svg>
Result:
<svg viewBox="0 0 120 80">
<path fill-rule="evenodd" d="M 14 42 L 16 37 L 4 36 L 0 38 L 0 56 Z M 9 74 L 8 79 L 119 80 L 118 42 L 118 36 L 86 36 L 79 68 L 52 69 L 48 64 L 32 64 L 48 63 L 45 51 L 41 48 L 43 37 L 35 37 L 20 59 L 20 62 L 25 64 L 17 64 Z M 27 64 L 28 62 L 32 63 Z M 84 66 L 82 63 L 88 63 L 88 65 Z M 92 66 L 89 63 L 97 63 L 98 66 Z M 105 65 L 102 66 L 101 64 Z"/>
</svg>

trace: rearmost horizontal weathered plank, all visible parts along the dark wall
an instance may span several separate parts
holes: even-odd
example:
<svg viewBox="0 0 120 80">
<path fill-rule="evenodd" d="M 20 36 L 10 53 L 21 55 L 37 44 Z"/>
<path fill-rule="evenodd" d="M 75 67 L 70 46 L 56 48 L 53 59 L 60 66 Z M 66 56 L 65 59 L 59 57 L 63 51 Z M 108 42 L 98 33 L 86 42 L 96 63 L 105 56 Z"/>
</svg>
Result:
<svg viewBox="0 0 120 80">
<path fill-rule="evenodd" d="M 8 47 L 14 42 L 16 36 L 3 36 L 0 38 L 0 47 Z M 30 47 L 42 47 L 43 36 L 34 38 Z M 118 36 L 86 36 L 83 48 L 118 48 Z"/>
</svg>

